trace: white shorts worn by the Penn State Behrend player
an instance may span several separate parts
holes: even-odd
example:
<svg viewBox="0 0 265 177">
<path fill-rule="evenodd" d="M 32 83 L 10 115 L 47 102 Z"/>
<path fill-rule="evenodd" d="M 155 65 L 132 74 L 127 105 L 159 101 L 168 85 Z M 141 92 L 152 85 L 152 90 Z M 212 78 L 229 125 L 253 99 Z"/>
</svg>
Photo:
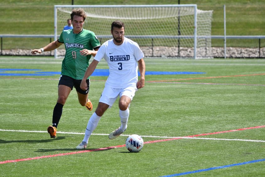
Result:
<svg viewBox="0 0 265 177">
<path fill-rule="evenodd" d="M 135 89 L 134 87 L 127 87 L 124 89 L 105 87 L 101 94 L 99 102 L 103 102 L 109 105 L 109 107 L 111 108 L 118 96 L 127 96 L 132 100 L 135 96 L 135 91 L 137 91 L 137 89 Z"/>
</svg>

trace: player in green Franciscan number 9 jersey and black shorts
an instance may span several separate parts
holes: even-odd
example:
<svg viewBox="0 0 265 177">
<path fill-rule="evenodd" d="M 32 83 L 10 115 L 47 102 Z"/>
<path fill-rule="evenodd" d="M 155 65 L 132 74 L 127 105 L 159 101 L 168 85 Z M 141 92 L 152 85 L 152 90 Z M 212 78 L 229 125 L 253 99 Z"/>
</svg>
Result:
<svg viewBox="0 0 265 177">
<path fill-rule="evenodd" d="M 91 55 L 96 55 L 100 42 L 94 32 L 83 29 L 86 17 L 87 15 L 83 9 L 73 9 L 71 13 L 73 29 L 64 30 L 58 40 L 51 42 L 43 48 L 31 51 L 34 55 L 35 53 L 52 51 L 63 43 L 65 45 L 66 52 L 62 61 L 61 77 L 58 84 L 58 99 L 53 110 L 52 126 L 49 126 L 47 129 L 51 138 L 56 137 L 62 108 L 73 87 L 76 88 L 79 103 L 82 106 L 86 106 L 89 111 L 93 108 L 92 102 L 87 97 L 90 84 L 89 77 L 86 80 L 87 90 L 82 90 L 80 83 L 89 65 L 88 61 Z"/>
</svg>

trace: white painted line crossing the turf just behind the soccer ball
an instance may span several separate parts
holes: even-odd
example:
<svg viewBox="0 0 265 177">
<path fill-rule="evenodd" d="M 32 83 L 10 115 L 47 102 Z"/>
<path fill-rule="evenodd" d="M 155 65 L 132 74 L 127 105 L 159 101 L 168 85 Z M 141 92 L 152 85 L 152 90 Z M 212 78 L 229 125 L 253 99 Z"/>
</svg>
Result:
<svg viewBox="0 0 265 177">
<path fill-rule="evenodd" d="M 0 131 L 15 131 L 15 132 L 30 132 L 30 133 L 48 133 L 47 131 L 30 131 L 30 130 L 3 130 Z M 61 134 L 74 134 L 74 135 L 84 135 L 85 133 L 77 133 L 77 132 L 61 132 L 57 131 L 57 133 Z M 109 134 L 100 134 L 100 133 L 92 133 L 92 135 L 101 135 L 108 136 Z M 120 136 L 129 136 L 129 135 L 120 135 Z M 224 139 L 224 138 L 198 138 L 198 137 L 185 137 L 185 136 L 145 136 L 141 135 L 141 137 L 150 137 L 150 138 L 179 138 L 179 139 L 198 139 L 198 140 L 223 140 L 223 141 L 252 141 L 252 142 L 265 142 L 263 140 L 242 140 L 242 139 Z"/>
</svg>

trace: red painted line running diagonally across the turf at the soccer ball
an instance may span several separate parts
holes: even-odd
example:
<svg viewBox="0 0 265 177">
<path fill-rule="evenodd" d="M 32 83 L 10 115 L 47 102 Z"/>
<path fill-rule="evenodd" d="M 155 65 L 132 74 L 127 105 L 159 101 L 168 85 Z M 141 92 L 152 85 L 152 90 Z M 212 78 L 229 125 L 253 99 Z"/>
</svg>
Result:
<svg viewBox="0 0 265 177">
<path fill-rule="evenodd" d="M 241 129 L 236 129 L 236 130 L 226 130 L 226 131 L 218 131 L 218 132 L 212 132 L 212 133 L 203 133 L 203 134 L 184 136 L 184 137 L 207 136 L 207 135 L 215 135 L 215 134 L 220 134 L 220 133 L 229 133 L 229 132 L 234 132 L 234 131 L 258 129 L 258 128 L 264 128 L 264 127 L 265 127 L 265 125 L 241 128 Z M 171 141 L 171 140 L 178 140 L 178 139 L 183 139 L 183 138 L 182 137 L 177 137 L 177 138 L 170 138 L 170 139 L 163 139 L 163 140 L 146 141 L 144 144 L 157 143 L 157 142 L 163 142 L 163 141 Z M 119 147 L 125 147 L 125 144 L 124 145 L 118 145 L 118 146 L 111 146 L 111 147 L 103 147 L 103 148 L 98 148 L 98 149 L 91 149 L 91 150 L 60 153 L 60 154 L 54 154 L 54 155 L 48 155 L 48 156 L 39 156 L 39 157 L 33 157 L 33 158 L 21 158 L 21 159 L 15 159 L 15 160 L 6 160 L 6 161 L 1 161 L 0 164 L 36 160 L 36 159 L 41 159 L 41 158 L 51 158 L 51 157 L 58 157 L 58 156 L 66 156 L 66 155 L 79 154 L 79 153 L 85 153 L 85 152 L 93 152 L 93 151 L 104 151 L 104 150 L 109 150 L 109 149 L 114 149 L 114 148 L 119 148 Z"/>
</svg>

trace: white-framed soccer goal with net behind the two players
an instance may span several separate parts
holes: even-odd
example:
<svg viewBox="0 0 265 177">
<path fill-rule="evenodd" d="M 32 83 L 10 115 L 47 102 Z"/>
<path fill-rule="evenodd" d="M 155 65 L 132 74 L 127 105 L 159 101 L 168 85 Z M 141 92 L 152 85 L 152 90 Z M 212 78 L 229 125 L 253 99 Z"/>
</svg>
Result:
<svg viewBox="0 0 265 177">
<path fill-rule="evenodd" d="M 84 9 L 87 19 L 83 28 L 93 31 L 101 44 L 112 39 L 111 23 L 121 20 L 125 36 L 137 42 L 146 57 L 212 57 L 212 10 L 199 10 L 192 4 L 55 5 L 55 40 L 74 8 Z M 55 57 L 64 53 L 64 47 L 60 47 Z"/>
</svg>

